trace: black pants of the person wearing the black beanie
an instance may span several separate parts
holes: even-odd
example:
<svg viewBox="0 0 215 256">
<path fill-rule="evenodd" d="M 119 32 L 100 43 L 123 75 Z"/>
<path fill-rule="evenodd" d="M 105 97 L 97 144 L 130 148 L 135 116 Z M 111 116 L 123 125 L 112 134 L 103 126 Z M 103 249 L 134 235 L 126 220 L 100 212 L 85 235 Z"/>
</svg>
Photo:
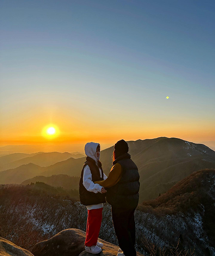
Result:
<svg viewBox="0 0 215 256">
<path fill-rule="evenodd" d="M 136 209 L 136 208 L 135 208 Z M 119 209 L 112 206 L 113 226 L 119 247 L 125 256 L 136 256 L 135 246 L 135 209 Z"/>
</svg>

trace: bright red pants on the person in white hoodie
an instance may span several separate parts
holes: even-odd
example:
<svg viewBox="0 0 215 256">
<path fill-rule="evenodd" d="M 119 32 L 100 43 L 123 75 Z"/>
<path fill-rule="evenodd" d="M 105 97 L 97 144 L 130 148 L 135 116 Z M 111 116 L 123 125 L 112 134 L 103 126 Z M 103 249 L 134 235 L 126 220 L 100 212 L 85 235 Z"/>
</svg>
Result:
<svg viewBox="0 0 215 256">
<path fill-rule="evenodd" d="M 88 210 L 88 221 L 85 239 L 86 246 L 90 247 L 97 244 L 99 231 L 102 224 L 102 210 L 103 208 Z"/>
</svg>

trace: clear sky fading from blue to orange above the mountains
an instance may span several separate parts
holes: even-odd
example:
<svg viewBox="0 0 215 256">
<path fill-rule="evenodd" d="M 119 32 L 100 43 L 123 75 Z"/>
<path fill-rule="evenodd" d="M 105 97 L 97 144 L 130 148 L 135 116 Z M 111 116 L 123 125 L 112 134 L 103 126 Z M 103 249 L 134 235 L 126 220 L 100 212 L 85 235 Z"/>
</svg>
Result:
<svg viewBox="0 0 215 256">
<path fill-rule="evenodd" d="M 214 1 L 0 5 L 1 145 L 215 140 Z"/>
</svg>

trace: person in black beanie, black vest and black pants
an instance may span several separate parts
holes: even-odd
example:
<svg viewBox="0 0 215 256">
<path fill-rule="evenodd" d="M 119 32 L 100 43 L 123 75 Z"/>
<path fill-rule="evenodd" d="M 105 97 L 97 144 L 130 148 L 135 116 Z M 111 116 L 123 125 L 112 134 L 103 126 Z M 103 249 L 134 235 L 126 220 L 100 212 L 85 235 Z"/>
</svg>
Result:
<svg viewBox="0 0 215 256">
<path fill-rule="evenodd" d="M 128 144 L 119 140 L 114 145 L 113 167 L 108 178 L 95 183 L 107 189 L 113 226 L 119 243 L 118 256 L 136 256 L 134 212 L 139 202 L 139 172 L 128 154 Z"/>
</svg>

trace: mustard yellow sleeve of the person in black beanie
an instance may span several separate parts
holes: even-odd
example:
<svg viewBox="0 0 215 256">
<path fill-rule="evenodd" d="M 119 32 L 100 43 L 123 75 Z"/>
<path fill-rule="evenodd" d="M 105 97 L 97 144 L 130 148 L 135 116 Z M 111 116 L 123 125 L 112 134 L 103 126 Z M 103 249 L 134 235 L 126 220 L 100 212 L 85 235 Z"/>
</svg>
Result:
<svg viewBox="0 0 215 256">
<path fill-rule="evenodd" d="M 110 170 L 110 173 L 106 180 L 95 181 L 94 183 L 98 183 L 99 185 L 109 188 L 111 186 L 116 185 L 116 183 L 122 177 L 122 166 L 119 163 L 116 163 Z"/>
</svg>

